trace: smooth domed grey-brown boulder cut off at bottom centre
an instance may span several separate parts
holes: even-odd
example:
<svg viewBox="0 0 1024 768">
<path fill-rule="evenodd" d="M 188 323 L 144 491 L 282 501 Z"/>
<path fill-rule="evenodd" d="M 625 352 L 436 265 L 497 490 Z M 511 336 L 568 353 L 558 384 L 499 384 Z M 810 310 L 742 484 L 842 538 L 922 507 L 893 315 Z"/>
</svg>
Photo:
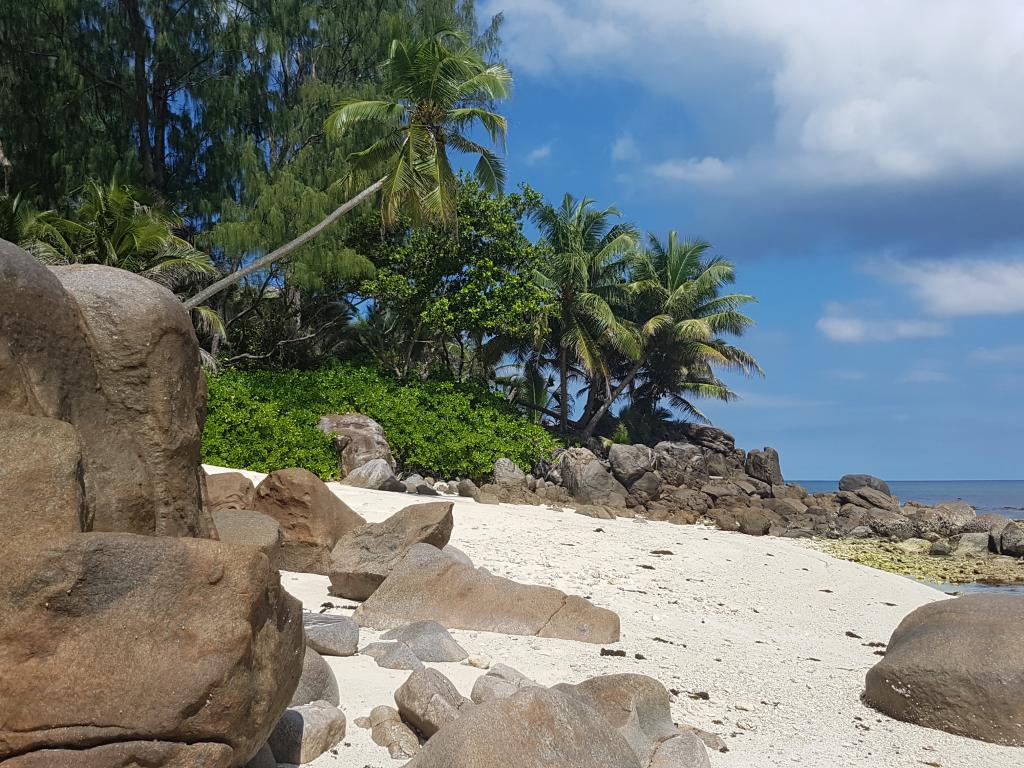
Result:
<svg viewBox="0 0 1024 768">
<path fill-rule="evenodd" d="M 467 709 L 407 764 L 407 768 L 535 766 L 641 768 L 626 739 L 592 708 L 539 687 Z"/>
</svg>

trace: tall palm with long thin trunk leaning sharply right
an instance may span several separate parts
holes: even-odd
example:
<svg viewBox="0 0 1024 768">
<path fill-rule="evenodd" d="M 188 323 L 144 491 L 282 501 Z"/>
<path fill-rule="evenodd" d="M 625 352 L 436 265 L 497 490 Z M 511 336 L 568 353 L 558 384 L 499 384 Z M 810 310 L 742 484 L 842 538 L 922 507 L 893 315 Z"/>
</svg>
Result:
<svg viewBox="0 0 1024 768">
<path fill-rule="evenodd" d="M 186 306 L 196 306 L 285 258 L 378 191 L 385 226 L 392 225 L 403 209 L 414 216 L 451 222 L 458 182 L 449 150 L 478 156 L 474 175 L 488 191 L 502 188 L 501 159 L 468 134 L 479 126 L 492 142 L 504 141 L 505 118 L 489 109 L 511 92 L 512 75 L 504 66 L 487 65 L 466 35 L 442 29 L 422 40 L 393 41 L 381 65 L 381 98 L 343 101 L 325 128 L 341 138 L 357 127 L 369 127 L 375 140 L 348 159 L 353 172 L 383 169 L 383 175 L 295 240 L 200 291 Z M 353 173 L 349 180 L 354 177 Z"/>
</svg>

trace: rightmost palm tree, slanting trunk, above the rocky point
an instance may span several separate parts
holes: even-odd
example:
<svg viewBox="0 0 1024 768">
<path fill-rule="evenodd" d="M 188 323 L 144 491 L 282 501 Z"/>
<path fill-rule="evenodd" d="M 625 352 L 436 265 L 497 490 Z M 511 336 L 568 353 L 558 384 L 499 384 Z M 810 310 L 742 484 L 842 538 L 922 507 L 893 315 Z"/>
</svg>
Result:
<svg viewBox="0 0 1024 768">
<path fill-rule="evenodd" d="M 668 396 L 674 407 L 700 417 L 688 396 L 733 397 L 715 375 L 715 366 L 762 373 L 752 355 L 722 338 L 741 335 L 754 324 L 739 311 L 755 301 L 753 296 L 722 293 L 735 281 L 733 265 L 709 256 L 709 243 L 680 241 L 675 231 L 665 244 L 654 236 L 649 241 L 649 248 L 632 259 L 628 289 L 635 313 L 632 334 L 640 351 L 627 360 L 616 386 L 584 425 L 583 439 L 638 380 L 641 387 L 634 402 L 646 399 L 653 409 Z"/>
</svg>

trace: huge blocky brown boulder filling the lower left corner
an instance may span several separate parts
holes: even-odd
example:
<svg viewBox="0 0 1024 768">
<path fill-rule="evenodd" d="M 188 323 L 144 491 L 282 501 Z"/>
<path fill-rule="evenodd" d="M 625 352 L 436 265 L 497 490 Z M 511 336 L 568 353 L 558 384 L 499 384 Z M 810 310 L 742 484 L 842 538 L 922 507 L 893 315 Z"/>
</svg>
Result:
<svg viewBox="0 0 1024 768">
<path fill-rule="evenodd" d="M 110 745 L 117 765 L 129 748 L 115 744 L 137 740 L 214 742 L 244 765 L 266 741 L 302 653 L 299 603 L 266 556 L 129 534 L 8 545 L 0 760 Z"/>
</svg>

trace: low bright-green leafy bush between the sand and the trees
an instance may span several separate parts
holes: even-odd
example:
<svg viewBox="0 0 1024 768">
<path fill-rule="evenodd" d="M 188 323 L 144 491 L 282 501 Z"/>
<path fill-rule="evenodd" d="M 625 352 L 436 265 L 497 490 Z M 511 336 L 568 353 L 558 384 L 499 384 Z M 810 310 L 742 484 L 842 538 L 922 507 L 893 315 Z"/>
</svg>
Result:
<svg viewBox="0 0 1024 768">
<path fill-rule="evenodd" d="M 305 467 L 337 477 L 331 442 L 316 421 L 356 411 L 380 422 L 403 469 L 480 479 L 508 457 L 523 469 L 549 456 L 555 439 L 477 386 L 447 381 L 399 384 L 374 369 L 227 371 L 210 377 L 203 461 L 269 472 Z"/>
</svg>

